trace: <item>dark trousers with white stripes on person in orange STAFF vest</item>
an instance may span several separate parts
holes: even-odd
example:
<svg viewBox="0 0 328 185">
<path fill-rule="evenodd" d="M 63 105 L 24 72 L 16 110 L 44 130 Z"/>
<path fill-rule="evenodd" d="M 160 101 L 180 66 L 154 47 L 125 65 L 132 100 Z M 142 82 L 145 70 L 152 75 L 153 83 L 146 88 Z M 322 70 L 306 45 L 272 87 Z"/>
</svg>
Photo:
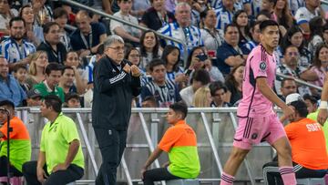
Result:
<svg viewBox="0 0 328 185">
<path fill-rule="evenodd" d="M 311 170 L 301 165 L 292 162 L 293 170 L 295 172 L 296 179 L 302 178 L 323 178 L 327 173 L 327 170 Z M 282 176 L 279 172 L 278 161 L 273 161 L 264 164 L 263 166 L 263 178 L 269 185 L 283 184 Z"/>
</svg>

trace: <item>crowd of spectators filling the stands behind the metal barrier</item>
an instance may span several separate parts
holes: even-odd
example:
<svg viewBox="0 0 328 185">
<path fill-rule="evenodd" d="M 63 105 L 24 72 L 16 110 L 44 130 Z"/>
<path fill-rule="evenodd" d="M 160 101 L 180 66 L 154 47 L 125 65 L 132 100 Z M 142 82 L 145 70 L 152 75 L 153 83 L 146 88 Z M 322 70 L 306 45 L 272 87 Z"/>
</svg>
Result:
<svg viewBox="0 0 328 185">
<path fill-rule="evenodd" d="M 60 1 L 0 0 L 0 99 L 39 106 L 56 95 L 68 108 L 89 108 L 93 67 L 110 35 L 125 41 L 125 58 L 142 70 L 134 107 L 235 107 L 245 61 L 260 42 L 261 21 L 280 25 L 274 91 L 298 92 L 316 108 L 328 67 L 328 24 L 320 0 L 76 0 L 149 31 Z M 72 29 L 71 27 L 77 27 Z M 159 38 L 163 35 L 186 43 Z M 120 49 L 120 48 L 115 48 Z M 313 110 L 315 111 L 315 110 Z"/>
</svg>

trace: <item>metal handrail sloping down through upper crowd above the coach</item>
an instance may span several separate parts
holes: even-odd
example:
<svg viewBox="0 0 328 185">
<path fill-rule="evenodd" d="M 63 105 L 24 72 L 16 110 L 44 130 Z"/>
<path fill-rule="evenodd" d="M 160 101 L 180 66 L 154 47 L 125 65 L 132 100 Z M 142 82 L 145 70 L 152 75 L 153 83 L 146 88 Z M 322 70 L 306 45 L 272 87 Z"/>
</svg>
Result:
<svg viewBox="0 0 328 185">
<path fill-rule="evenodd" d="M 81 9 L 85 9 L 87 11 L 90 11 L 90 12 L 94 13 L 94 14 L 102 15 L 102 16 L 108 17 L 109 19 L 113 19 L 115 21 L 118 21 L 119 23 L 123 23 L 123 24 L 128 25 L 128 26 L 136 27 L 138 29 L 141 29 L 142 31 L 151 30 L 148 27 L 139 26 L 139 25 L 130 23 L 130 22 L 126 21 L 126 20 L 123 20 L 123 19 L 118 18 L 117 16 L 108 15 L 108 14 L 106 14 L 104 12 L 101 12 L 99 10 L 96 10 L 94 8 L 91 8 L 91 7 L 87 6 L 87 5 L 79 4 L 79 3 L 75 2 L 75 1 L 71 1 L 71 0 L 60 0 L 60 2 L 66 3 L 68 5 L 75 5 L 75 6 L 79 7 L 79 8 L 81 8 Z M 183 46 L 183 54 L 184 54 L 183 61 L 185 62 L 184 64 L 186 64 L 187 58 L 188 58 L 188 49 L 187 49 L 187 44 L 186 43 L 184 43 L 180 39 L 177 39 L 177 38 L 173 38 L 173 37 L 170 37 L 170 36 L 165 36 L 163 34 L 160 34 L 156 30 L 152 30 L 152 31 L 154 31 L 156 33 L 156 35 L 159 36 L 159 37 L 162 37 L 162 38 L 165 38 L 165 39 L 169 39 L 169 40 L 171 40 L 173 42 L 176 42 L 176 43 L 181 44 Z"/>
</svg>

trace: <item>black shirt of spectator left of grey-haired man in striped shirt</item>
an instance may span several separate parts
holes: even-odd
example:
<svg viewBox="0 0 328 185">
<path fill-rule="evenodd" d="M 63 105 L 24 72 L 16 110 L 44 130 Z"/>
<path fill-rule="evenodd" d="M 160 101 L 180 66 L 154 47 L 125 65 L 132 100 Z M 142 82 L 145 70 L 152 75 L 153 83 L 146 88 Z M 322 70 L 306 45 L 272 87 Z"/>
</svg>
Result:
<svg viewBox="0 0 328 185">
<path fill-rule="evenodd" d="M 175 17 L 172 13 L 167 12 L 165 21 L 168 23 L 173 23 L 175 21 Z M 159 30 L 160 27 L 164 26 L 162 21 L 159 18 L 159 15 L 154 7 L 150 7 L 144 15 L 142 15 L 141 23 L 147 25 L 150 29 Z"/>
</svg>

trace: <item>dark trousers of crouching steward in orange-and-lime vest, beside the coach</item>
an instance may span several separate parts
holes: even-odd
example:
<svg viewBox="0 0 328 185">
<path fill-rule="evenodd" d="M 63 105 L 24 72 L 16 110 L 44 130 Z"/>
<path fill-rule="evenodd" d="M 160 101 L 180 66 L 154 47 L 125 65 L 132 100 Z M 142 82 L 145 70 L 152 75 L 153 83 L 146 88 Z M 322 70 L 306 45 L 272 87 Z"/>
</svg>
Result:
<svg viewBox="0 0 328 185">
<path fill-rule="evenodd" d="M 181 179 L 169 173 L 167 168 L 147 170 L 144 173 L 144 185 L 154 185 L 154 181 L 160 180 L 178 180 Z"/>
</svg>

